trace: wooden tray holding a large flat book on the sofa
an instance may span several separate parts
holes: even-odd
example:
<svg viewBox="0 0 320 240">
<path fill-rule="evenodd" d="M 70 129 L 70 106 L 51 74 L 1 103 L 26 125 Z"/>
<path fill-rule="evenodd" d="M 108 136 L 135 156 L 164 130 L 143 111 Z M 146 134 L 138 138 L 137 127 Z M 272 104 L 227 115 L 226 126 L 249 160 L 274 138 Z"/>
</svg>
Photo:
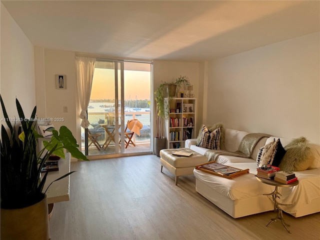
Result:
<svg viewBox="0 0 320 240">
<path fill-rule="evenodd" d="M 236 176 L 249 173 L 249 169 L 239 169 L 232 166 L 217 163 L 215 161 L 208 161 L 195 166 L 195 169 L 201 170 L 213 175 L 222 176 L 228 179 L 232 179 Z"/>
</svg>

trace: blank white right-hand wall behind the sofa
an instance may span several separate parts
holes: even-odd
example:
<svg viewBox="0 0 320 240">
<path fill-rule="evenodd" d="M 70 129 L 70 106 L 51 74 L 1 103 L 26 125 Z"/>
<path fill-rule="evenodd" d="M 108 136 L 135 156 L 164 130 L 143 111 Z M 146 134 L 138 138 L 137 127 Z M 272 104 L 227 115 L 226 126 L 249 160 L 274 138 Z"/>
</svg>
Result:
<svg viewBox="0 0 320 240">
<path fill-rule="evenodd" d="M 204 122 L 320 143 L 319 52 L 316 32 L 209 62 Z"/>
</svg>

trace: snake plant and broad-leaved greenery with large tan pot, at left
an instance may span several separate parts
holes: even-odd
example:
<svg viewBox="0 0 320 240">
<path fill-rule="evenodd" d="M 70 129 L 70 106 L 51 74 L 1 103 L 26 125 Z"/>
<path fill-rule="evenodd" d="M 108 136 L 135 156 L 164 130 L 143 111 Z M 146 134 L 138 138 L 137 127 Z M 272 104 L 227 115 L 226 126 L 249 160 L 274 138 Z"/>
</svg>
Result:
<svg viewBox="0 0 320 240">
<path fill-rule="evenodd" d="M 41 168 L 51 154 L 64 158 L 63 149 L 77 159 L 88 159 L 79 151 L 75 138 L 66 126 L 61 126 L 59 132 L 53 129 L 50 141 L 43 141 L 44 147 L 37 153 L 37 138 L 42 135 L 35 130 L 36 106 L 30 118 L 25 118 L 16 99 L 21 130 L 16 122 L 12 126 L 1 96 L 0 101 L 8 126 L 7 132 L 1 125 L 0 140 L 1 239 L 48 239 L 48 208 L 46 190 L 43 191 L 48 172 L 41 179 Z"/>
</svg>

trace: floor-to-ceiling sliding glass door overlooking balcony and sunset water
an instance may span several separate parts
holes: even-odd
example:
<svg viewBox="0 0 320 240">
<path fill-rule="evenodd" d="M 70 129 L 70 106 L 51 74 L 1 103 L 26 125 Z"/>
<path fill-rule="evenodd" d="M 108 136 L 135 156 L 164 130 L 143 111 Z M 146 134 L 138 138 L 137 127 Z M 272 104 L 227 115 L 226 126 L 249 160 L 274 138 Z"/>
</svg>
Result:
<svg viewBox="0 0 320 240">
<path fill-rule="evenodd" d="M 151 79 L 149 62 L 96 60 L 83 152 L 103 157 L 151 151 Z"/>
</svg>

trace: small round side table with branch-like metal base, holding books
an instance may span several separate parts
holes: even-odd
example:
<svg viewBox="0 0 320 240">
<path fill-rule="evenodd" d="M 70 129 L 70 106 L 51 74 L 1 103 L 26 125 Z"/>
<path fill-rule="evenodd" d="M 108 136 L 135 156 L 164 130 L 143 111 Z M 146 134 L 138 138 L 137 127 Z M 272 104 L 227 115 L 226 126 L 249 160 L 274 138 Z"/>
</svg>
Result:
<svg viewBox="0 0 320 240">
<path fill-rule="evenodd" d="M 276 217 L 271 218 L 271 221 L 266 226 L 269 226 L 272 222 L 275 222 L 277 219 L 280 219 L 280 221 L 281 221 L 282 225 L 285 227 L 285 229 L 289 233 L 291 233 L 290 230 L 287 228 L 287 226 L 290 226 L 290 225 L 283 220 L 282 209 L 279 207 L 279 205 L 290 206 L 292 204 L 279 203 L 276 201 L 276 198 L 280 198 L 279 196 L 281 196 L 281 194 L 278 192 L 278 186 L 282 186 L 282 187 L 296 186 L 297 184 L 299 184 L 299 180 L 285 184 L 285 183 L 281 183 L 278 181 L 274 181 L 274 180 L 270 180 L 270 179 L 266 179 L 266 178 L 262 178 L 262 177 L 258 177 L 258 176 L 256 176 L 256 179 L 260 182 L 265 183 L 265 184 L 274 186 L 274 191 L 272 191 L 271 193 L 263 194 L 263 195 L 272 195 L 272 200 L 274 202 L 274 211 L 277 212 Z"/>
</svg>

